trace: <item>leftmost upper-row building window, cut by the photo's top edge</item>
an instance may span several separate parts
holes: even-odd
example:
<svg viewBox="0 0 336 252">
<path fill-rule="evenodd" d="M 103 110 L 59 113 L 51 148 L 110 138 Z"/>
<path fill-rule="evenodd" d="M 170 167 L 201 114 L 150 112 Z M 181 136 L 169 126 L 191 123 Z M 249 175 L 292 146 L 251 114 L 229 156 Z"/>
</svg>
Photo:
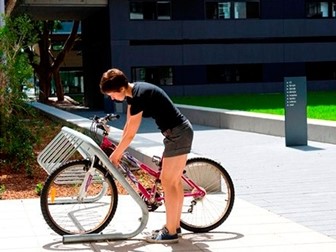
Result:
<svg viewBox="0 0 336 252">
<path fill-rule="evenodd" d="M 170 1 L 130 1 L 131 20 L 170 20 Z"/>
</svg>

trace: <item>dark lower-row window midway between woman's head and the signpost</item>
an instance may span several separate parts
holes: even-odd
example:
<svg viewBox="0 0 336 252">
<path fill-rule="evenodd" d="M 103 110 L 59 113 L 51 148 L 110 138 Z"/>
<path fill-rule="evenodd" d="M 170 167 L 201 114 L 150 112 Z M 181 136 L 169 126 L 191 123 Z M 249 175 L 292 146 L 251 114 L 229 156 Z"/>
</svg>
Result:
<svg viewBox="0 0 336 252">
<path fill-rule="evenodd" d="M 215 65 L 207 67 L 208 83 L 246 83 L 262 81 L 261 64 Z"/>
</svg>

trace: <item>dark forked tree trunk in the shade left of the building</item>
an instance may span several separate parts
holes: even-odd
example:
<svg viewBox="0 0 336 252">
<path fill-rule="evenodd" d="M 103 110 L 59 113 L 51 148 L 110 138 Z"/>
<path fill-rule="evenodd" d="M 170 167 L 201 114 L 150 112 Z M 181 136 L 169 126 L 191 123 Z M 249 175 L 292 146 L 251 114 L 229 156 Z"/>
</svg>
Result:
<svg viewBox="0 0 336 252">
<path fill-rule="evenodd" d="M 39 101 L 43 103 L 48 102 L 51 92 L 52 78 L 54 78 L 55 81 L 57 100 L 64 101 L 64 91 L 59 70 L 66 54 L 72 49 L 76 42 L 80 21 L 73 21 L 72 31 L 57 56 L 54 56 L 51 51 L 51 38 L 58 22 L 41 21 L 40 24 L 41 25 L 38 30 L 39 41 L 37 46 L 28 47 L 26 50 L 29 54 L 29 62 L 34 68 L 34 71 L 39 79 Z"/>
</svg>

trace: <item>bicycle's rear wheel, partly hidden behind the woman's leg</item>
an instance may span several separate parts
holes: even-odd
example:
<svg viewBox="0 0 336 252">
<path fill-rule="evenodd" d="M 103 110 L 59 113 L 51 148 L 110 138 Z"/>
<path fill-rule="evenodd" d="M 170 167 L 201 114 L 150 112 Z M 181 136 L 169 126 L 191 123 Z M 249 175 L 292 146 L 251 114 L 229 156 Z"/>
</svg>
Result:
<svg viewBox="0 0 336 252">
<path fill-rule="evenodd" d="M 201 198 L 184 197 L 181 227 L 205 233 L 220 226 L 230 215 L 235 190 L 229 173 L 219 163 L 203 157 L 187 160 L 185 176 L 206 191 Z M 192 190 L 184 183 L 184 190 Z"/>
</svg>

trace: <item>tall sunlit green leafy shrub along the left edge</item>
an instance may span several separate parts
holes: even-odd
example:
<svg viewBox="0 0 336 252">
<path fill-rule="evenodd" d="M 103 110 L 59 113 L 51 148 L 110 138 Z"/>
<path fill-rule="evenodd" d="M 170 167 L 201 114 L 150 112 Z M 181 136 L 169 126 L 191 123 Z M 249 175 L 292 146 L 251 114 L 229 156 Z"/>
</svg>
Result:
<svg viewBox="0 0 336 252">
<path fill-rule="evenodd" d="M 14 169 L 24 167 L 31 175 L 35 138 L 25 119 L 31 115 L 22 86 L 33 74 L 24 53 L 36 40 L 28 16 L 6 18 L 0 28 L 0 154 L 12 161 Z"/>
</svg>

